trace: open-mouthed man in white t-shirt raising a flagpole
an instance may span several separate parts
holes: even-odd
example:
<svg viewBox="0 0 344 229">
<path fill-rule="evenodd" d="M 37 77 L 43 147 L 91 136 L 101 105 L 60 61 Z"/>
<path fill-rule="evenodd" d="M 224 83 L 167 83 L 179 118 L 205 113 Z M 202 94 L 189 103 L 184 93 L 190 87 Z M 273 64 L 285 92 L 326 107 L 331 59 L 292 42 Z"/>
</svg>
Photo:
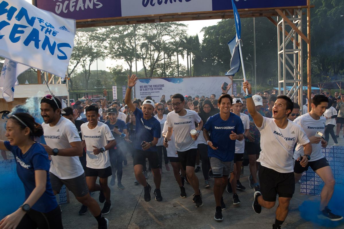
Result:
<svg viewBox="0 0 344 229">
<path fill-rule="evenodd" d="M 302 128 L 287 119 L 293 110 L 293 102 L 285 95 L 277 97 L 272 108 L 272 118 L 263 117 L 255 109 L 252 99 L 251 84 L 243 83 L 243 89 L 248 89 L 247 109 L 260 131 L 261 152 L 259 159 L 260 191 L 254 194 L 253 209 L 257 214 L 261 207 L 272 208 L 276 203 L 278 194 L 278 207 L 276 209 L 275 224 L 273 229 L 281 228 L 288 215 L 289 202 L 295 191 L 293 172 L 293 149 L 296 142 L 304 148 L 301 160 L 302 167 L 307 166 L 312 146 Z"/>
</svg>

